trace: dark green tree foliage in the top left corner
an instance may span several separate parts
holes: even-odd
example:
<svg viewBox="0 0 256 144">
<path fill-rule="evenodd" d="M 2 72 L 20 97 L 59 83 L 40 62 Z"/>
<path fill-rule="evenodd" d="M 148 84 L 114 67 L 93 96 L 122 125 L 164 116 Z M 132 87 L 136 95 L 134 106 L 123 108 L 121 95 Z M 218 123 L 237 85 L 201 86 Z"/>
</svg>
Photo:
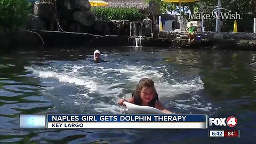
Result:
<svg viewBox="0 0 256 144">
<path fill-rule="evenodd" d="M 0 0 L 0 27 L 12 32 L 25 26 L 30 9 L 27 0 Z"/>
</svg>

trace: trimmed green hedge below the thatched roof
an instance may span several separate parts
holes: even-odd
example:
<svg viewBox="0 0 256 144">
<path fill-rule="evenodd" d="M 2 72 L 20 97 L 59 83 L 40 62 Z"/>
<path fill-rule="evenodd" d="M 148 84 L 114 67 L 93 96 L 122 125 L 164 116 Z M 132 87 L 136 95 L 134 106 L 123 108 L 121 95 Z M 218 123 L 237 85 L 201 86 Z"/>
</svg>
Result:
<svg viewBox="0 0 256 144">
<path fill-rule="evenodd" d="M 92 7 L 91 11 L 95 14 L 98 20 L 130 20 L 137 21 L 142 20 L 145 15 L 143 15 L 137 9 L 112 9 L 108 7 Z"/>
</svg>

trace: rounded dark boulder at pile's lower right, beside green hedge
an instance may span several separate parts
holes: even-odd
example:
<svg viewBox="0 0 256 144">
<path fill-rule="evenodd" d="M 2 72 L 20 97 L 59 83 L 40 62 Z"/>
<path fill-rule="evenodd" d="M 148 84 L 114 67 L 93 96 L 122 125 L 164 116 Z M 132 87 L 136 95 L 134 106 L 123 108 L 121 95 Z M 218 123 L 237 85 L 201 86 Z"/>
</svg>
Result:
<svg viewBox="0 0 256 144">
<path fill-rule="evenodd" d="M 95 15 L 90 11 L 77 11 L 73 14 L 73 19 L 89 27 L 94 23 Z"/>
</svg>

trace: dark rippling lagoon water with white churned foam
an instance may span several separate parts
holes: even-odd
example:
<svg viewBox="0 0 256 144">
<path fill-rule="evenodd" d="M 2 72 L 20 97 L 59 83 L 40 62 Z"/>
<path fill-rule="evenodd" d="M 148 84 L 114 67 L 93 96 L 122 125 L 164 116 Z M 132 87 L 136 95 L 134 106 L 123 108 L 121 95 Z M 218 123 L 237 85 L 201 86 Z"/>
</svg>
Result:
<svg viewBox="0 0 256 144">
<path fill-rule="evenodd" d="M 256 143 L 256 54 L 248 51 L 108 47 L 54 48 L 0 55 L 0 143 Z M 52 60 L 50 65 L 31 64 Z M 209 138 L 208 130 L 20 130 L 20 114 L 122 113 L 142 77 L 181 114 L 235 116 L 240 138 Z"/>
</svg>

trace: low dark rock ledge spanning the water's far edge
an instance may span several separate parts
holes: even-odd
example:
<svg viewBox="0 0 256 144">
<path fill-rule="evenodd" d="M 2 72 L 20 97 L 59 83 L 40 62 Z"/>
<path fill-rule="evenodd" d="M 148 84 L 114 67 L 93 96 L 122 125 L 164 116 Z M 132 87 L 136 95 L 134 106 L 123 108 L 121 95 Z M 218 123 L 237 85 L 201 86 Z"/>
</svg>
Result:
<svg viewBox="0 0 256 144">
<path fill-rule="evenodd" d="M 189 42 L 182 38 L 157 38 L 118 36 L 118 35 L 92 35 L 81 33 L 64 33 L 60 31 L 29 30 L 19 31 L 10 35 L 0 33 L 2 50 L 10 47 L 92 47 L 92 46 L 134 46 L 135 39 L 140 38 L 142 46 L 169 47 L 170 49 L 221 49 L 221 50 L 256 50 L 256 40 L 253 39 L 216 39 L 207 38 Z M 13 48 L 12 48 L 13 49 Z"/>
</svg>

